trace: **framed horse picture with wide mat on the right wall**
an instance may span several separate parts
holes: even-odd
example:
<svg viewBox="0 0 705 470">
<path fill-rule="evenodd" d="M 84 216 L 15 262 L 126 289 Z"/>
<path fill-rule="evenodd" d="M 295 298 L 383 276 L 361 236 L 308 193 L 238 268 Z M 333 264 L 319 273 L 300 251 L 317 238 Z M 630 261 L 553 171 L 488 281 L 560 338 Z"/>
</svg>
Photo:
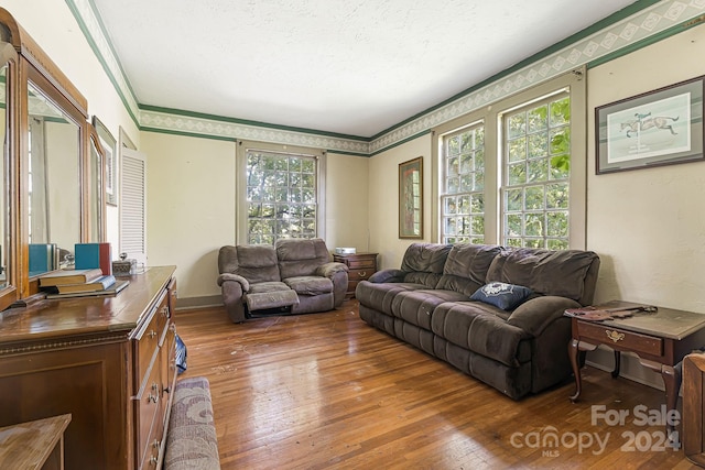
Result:
<svg viewBox="0 0 705 470">
<path fill-rule="evenodd" d="M 704 81 L 701 76 L 595 108 L 596 173 L 705 160 Z"/>
</svg>

